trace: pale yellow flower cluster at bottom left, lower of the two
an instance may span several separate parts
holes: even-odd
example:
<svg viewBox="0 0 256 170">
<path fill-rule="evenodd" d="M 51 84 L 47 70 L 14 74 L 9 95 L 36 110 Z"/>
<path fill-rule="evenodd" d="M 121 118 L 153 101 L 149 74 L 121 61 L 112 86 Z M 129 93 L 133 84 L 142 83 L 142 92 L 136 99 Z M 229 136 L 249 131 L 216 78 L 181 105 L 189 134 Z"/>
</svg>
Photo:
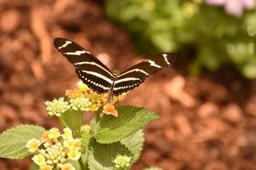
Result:
<svg viewBox="0 0 256 170">
<path fill-rule="evenodd" d="M 69 161 L 78 161 L 81 156 L 81 139 L 73 139 L 71 129 L 64 128 L 60 133 L 58 128 L 46 131 L 41 140 L 30 139 L 26 148 L 35 154 L 32 157 L 40 170 L 74 170 Z"/>
</svg>

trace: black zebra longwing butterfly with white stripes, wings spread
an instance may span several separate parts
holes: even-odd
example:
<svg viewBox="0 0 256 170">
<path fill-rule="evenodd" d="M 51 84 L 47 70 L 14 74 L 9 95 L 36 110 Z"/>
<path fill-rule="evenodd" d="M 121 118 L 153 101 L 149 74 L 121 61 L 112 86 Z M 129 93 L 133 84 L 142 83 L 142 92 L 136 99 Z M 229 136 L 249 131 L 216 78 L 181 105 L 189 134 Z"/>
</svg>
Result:
<svg viewBox="0 0 256 170">
<path fill-rule="evenodd" d="M 71 62 L 78 77 L 97 94 L 119 95 L 138 87 L 154 73 L 169 67 L 175 54 L 165 53 L 146 59 L 119 74 L 119 70 L 109 71 L 108 67 L 77 43 L 57 37 L 55 48 Z"/>
</svg>

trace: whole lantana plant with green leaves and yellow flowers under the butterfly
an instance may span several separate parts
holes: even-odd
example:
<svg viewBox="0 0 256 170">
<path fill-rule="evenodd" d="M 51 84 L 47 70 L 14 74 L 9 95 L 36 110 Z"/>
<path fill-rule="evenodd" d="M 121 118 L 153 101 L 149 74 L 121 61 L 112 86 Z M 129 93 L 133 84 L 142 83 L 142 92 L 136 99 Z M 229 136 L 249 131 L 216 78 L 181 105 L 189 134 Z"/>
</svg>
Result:
<svg viewBox="0 0 256 170">
<path fill-rule="evenodd" d="M 144 108 L 118 106 L 118 116 L 104 114 L 107 94 L 96 94 L 79 82 L 65 98 L 45 102 L 49 116 L 56 116 L 62 130 L 20 125 L 0 134 L 0 156 L 22 159 L 32 156 L 31 170 L 125 170 L 143 149 L 143 127 L 159 116 Z M 123 98 L 125 95 L 119 96 Z M 113 98 L 113 104 L 117 97 Z M 96 111 L 90 124 L 83 115 Z M 62 131 L 62 132 L 61 132 Z M 157 168 L 153 168 L 157 169 Z"/>
</svg>

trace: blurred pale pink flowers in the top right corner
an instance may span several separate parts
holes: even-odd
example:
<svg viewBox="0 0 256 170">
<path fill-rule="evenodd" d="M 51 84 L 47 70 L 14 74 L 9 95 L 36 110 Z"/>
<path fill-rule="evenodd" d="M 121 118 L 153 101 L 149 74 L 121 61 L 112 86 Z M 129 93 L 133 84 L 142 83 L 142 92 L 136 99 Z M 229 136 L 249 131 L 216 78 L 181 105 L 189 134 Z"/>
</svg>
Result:
<svg viewBox="0 0 256 170">
<path fill-rule="evenodd" d="M 241 16 L 244 9 L 253 9 L 256 6 L 255 0 L 206 0 L 209 5 L 223 5 L 228 14 Z"/>
</svg>

